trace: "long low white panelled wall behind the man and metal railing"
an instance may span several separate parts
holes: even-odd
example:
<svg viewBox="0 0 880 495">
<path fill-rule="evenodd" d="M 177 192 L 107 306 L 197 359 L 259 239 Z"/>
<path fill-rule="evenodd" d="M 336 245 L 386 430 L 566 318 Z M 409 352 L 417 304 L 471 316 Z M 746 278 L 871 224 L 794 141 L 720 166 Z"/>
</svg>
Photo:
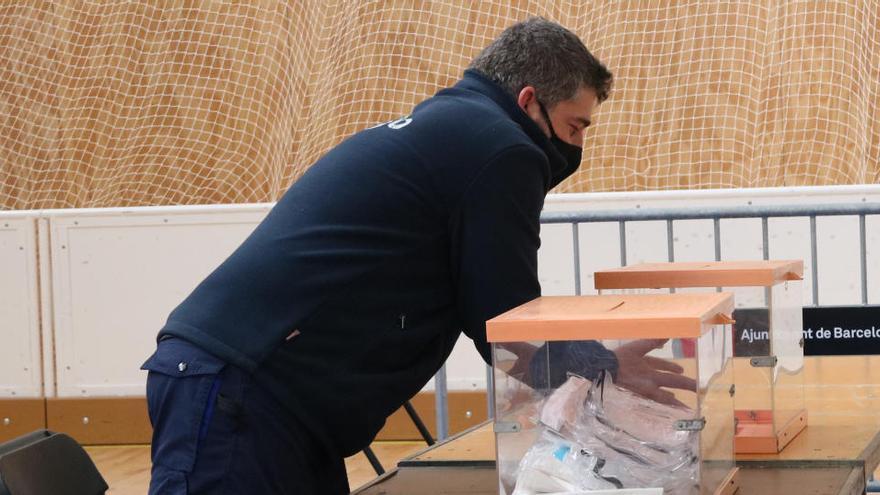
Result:
<svg viewBox="0 0 880 495">
<path fill-rule="evenodd" d="M 546 209 L 857 201 L 880 201 L 880 187 L 551 195 Z M 238 245 L 270 207 L 56 210 L 0 217 L 15 217 L 16 221 L 27 217 L 25 230 L 30 229 L 29 234 L 21 233 L 18 227 L 0 230 L 4 274 L 0 279 L 0 328 L 4 332 L 0 346 L 0 396 L 13 392 L 19 396 L 39 395 L 43 374 L 47 377 L 47 395 L 53 393 L 53 375 L 57 375 L 58 394 L 63 396 L 141 394 L 144 374 L 138 365 L 152 351 L 156 332 L 168 312 Z M 0 220 L 0 226 L 4 221 Z M 44 246 L 40 251 L 51 253 L 51 263 L 48 254 L 37 263 L 35 221 L 41 227 L 38 240 Z M 880 274 L 878 222 L 878 217 L 866 220 L 869 282 Z M 819 302 L 858 304 L 858 219 L 820 218 L 818 223 Z M 543 226 L 539 277 L 545 294 L 574 293 L 571 232 L 568 224 Z M 722 259 L 763 256 L 760 220 L 725 220 L 721 232 Z M 595 293 L 593 272 L 620 266 L 618 224 L 581 224 L 578 233 L 581 292 Z M 626 233 L 629 264 L 667 259 L 665 222 L 628 222 Z M 673 245 L 677 260 L 714 259 L 712 221 L 676 221 Z M 809 220 L 771 219 L 769 250 L 771 258 L 804 260 L 804 300 L 811 303 Z M 38 272 L 42 274 L 42 284 L 37 283 Z M 869 283 L 868 292 L 869 302 L 880 302 L 880 284 Z M 50 357 L 42 361 L 38 326 L 41 301 L 42 354 Z M 51 359 L 53 351 L 57 370 Z M 483 363 L 466 338 L 459 340 L 447 369 L 452 390 L 485 384 Z"/>
</svg>

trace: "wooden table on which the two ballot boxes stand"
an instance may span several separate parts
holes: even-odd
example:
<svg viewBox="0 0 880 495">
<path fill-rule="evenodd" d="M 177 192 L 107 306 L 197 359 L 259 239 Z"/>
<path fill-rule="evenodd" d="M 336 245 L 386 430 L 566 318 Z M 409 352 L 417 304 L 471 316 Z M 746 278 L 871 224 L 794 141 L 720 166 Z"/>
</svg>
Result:
<svg viewBox="0 0 880 495">
<path fill-rule="evenodd" d="M 740 493 L 864 494 L 880 465 L 880 356 L 807 358 L 804 372 L 809 426 L 779 454 L 738 455 Z M 491 422 L 400 461 L 355 493 L 497 494 Z"/>
</svg>

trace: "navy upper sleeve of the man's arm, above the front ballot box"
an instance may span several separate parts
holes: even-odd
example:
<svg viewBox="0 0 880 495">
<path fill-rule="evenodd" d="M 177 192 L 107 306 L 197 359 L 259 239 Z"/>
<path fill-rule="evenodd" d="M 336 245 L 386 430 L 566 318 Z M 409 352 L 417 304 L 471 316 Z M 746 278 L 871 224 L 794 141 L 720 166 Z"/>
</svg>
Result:
<svg viewBox="0 0 880 495">
<path fill-rule="evenodd" d="M 486 320 L 541 295 L 539 218 L 547 158 L 528 146 L 497 155 L 465 192 L 452 225 L 464 333 L 491 365 Z"/>
</svg>

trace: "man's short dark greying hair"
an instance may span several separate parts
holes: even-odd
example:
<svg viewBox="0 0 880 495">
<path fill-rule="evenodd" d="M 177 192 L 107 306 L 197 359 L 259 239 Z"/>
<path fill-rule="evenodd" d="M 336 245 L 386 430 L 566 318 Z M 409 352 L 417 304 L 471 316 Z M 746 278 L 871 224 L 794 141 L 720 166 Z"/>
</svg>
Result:
<svg viewBox="0 0 880 495">
<path fill-rule="evenodd" d="M 608 98 L 611 72 L 581 40 L 564 27 L 542 17 L 514 24 L 471 62 L 475 69 L 500 84 L 514 98 L 533 86 L 547 107 L 573 98 L 582 87 Z"/>
</svg>

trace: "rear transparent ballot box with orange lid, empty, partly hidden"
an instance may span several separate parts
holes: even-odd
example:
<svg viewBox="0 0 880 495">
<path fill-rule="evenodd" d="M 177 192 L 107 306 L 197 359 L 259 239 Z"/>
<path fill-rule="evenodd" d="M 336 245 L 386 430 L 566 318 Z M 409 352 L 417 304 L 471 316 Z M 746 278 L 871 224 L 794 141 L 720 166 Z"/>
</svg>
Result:
<svg viewBox="0 0 880 495">
<path fill-rule="evenodd" d="M 601 294 L 733 292 L 736 452 L 775 454 L 807 425 L 803 271 L 802 261 L 651 263 L 596 272 L 595 284 Z"/>
</svg>

